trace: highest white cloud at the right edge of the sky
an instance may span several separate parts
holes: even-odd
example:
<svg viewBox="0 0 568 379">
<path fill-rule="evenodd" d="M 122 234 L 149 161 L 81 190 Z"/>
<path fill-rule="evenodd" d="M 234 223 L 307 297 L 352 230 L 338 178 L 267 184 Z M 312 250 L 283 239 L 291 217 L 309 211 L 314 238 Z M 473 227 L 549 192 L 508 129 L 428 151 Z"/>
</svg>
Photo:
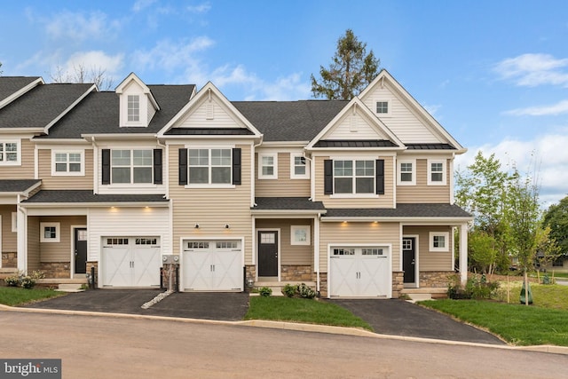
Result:
<svg viewBox="0 0 568 379">
<path fill-rule="evenodd" d="M 493 67 L 493 71 L 503 79 L 513 80 L 519 86 L 568 86 L 568 59 L 556 59 L 549 54 L 527 53 L 503 59 Z"/>
</svg>

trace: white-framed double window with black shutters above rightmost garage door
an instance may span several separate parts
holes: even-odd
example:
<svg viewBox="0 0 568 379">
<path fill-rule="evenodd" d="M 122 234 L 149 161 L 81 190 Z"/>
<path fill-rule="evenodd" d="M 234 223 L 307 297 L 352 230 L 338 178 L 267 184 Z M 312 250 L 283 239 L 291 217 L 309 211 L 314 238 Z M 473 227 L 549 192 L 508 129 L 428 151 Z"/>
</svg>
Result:
<svg viewBox="0 0 568 379">
<path fill-rule="evenodd" d="M 334 161 L 335 193 L 375 193 L 375 161 Z"/>
</svg>

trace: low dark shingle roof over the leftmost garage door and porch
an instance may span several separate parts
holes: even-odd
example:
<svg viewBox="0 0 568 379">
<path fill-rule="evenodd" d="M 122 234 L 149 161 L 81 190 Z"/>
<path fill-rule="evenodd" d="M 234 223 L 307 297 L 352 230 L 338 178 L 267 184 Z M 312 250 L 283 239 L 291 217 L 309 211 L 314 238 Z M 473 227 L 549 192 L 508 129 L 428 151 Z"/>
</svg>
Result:
<svg viewBox="0 0 568 379">
<path fill-rule="evenodd" d="M 167 202 L 163 194 L 94 194 L 91 190 L 42 190 L 22 203 L 38 202 Z"/>
</svg>

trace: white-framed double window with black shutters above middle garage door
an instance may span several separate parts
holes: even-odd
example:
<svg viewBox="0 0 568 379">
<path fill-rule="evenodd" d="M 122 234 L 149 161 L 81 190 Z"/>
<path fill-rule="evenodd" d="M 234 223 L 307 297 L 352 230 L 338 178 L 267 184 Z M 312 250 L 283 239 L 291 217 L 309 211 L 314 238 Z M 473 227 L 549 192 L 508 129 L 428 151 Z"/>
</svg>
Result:
<svg viewBox="0 0 568 379">
<path fill-rule="evenodd" d="M 189 184 L 231 184 L 231 149 L 188 149 Z"/>
</svg>

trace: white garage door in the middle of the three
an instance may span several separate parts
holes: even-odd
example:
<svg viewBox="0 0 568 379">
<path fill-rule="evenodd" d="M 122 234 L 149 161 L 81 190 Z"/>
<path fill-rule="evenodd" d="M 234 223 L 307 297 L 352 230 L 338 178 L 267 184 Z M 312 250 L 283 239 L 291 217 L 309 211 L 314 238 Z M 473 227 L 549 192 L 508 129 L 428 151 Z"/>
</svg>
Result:
<svg viewBox="0 0 568 379">
<path fill-rule="evenodd" d="M 193 291 L 241 291 L 241 241 L 184 241 L 183 287 Z"/>
</svg>

